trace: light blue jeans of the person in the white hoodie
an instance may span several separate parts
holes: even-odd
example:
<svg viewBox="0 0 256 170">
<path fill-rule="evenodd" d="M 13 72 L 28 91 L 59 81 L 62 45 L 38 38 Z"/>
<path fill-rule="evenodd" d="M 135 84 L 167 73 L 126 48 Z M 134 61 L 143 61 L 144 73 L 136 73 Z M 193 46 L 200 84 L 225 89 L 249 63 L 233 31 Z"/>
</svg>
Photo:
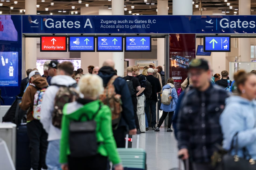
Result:
<svg viewBox="0 0 256 170">
<path fill-rule="evenodd" d="M 61 164 L 59 163 L 59 141 L 54 140 L 48 142 L 46 153 L 46 165 L 48 170 L 60 170 Z"/>
</svg>

